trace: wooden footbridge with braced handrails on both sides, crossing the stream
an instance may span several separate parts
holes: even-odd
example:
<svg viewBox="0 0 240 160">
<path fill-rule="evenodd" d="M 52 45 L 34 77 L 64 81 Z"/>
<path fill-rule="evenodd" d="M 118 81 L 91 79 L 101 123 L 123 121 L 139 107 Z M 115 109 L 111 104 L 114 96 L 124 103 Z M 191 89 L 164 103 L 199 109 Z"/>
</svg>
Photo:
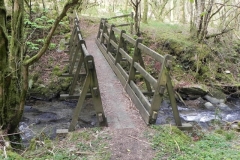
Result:
<svg viewBox="0 0 240 160">
<path fill-rule="evenodd" d="M 128 16 L 132 17 L 132 14 L 112 17 L 110 19 L 126 18 Z M 119 29 L 122 26 L 130 26 L 129 28 L 131 28 L 132 31 L 132 23 L 113 25 L 109 23 L 110 19 L 102 18 L 100 21 L 98 33 L 95 38 L 95 42 L 98 46 L 97 48 L 95 47 L 96 44 L 86 46 L 86 42 L 81 35 L 77 14 L 74 18 L 74 27 L 68 43 L 70 55 L 69 71 L 68 74 L 64 75 L 72 76 L 73 80 L 69 88 L 69 93 L 61 95 L 61 98 L 64 99 L 78 98 L 78 104 L 73 111 L 69 131 L 75 130 L 81 108 L 87 97 L 92 97 L 93 99 L 94 109 L 100 126 L 107 126 L 108 123 L 115 123 L 115 125 L 117 125 L 117 122 L 114 120 L 114 118 L 117 117 L 119 127 L 132 127 L 130 124 L 131 118 L 127 116 L 128 113 L 124 108 L 124 104 L 122 102 L 118 103 L 116 97 L 113 97 L 114 99 L 112 99 L 112 101 L 114 101 L 114 103 L 111 104 L 113 107 L 112 110 L 115 112 L 113 116 L 107 117 L 104 113 L 101 99 L 102 95 L 100 94 L 99 80 L 97 78 L 97 67 L 95 66 L 94 59 L 95 56 L 102 55 L 104 55 L 116 77 L 121 82 L 122 87 L 131 98 L 131 101 L 134 103 L 147 125 L 156 122 L 164 93 L 167 92 L 176 126 L 180 129 L 191 128 L 190 125 L 182 124 L 177 109 L 174 96 L 175 93 L 169 75 L 172 57 L 170 55 L 161 55 L 157 53 L 145 46 L 142 43 L 142 39 L 134 39 L 130 34 L 127 34 L 125 30 Z M 91 50 L 92 53 L 89 54 L 88 50 Z M 96 55 L 94 55 L 93 52 L 95 52 Z M 158 75 L 152 76 L 151 73 L 147 71 L 143 55 L 151 57 L 159 64 L 160 71 Z M 98 64 L 99 67 L 101 67 L 102 63 Z M 105 72 L 105 70 L 101 70 L 98 74 L 101 74 L 101 72 Z M 139 77 L 145 87 L 138 86 L 137 81 Z M 77 83 L 80 84 L 78 87 L 80 88 L 80 92 L 76 91 Z M 102 83 L 111 82 L 103 81 Z M 114 84 L 112 84 L 111 87 L 112 88 L 109 88 L 110 90 L 116 89 Z M 121 107 L 123 108 L 121 109 Z M 121 120 L 124 122 L 121 122 Z"/>
</svg>

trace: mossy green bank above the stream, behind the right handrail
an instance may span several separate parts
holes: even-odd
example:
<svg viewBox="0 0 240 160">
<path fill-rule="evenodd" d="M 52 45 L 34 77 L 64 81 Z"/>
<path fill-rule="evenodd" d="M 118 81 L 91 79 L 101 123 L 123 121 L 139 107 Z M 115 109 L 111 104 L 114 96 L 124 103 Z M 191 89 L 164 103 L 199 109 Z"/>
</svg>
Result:
<svg viewBox="0 0 240 160">
<path fill-rule="evenodd" d="M 225 86 L 239 87 L 239 45 L 231 34 L 199 43 L 191 37 L 189 26 L 150 21 L 142 25 L 142 37 L 153 50 L 173 56 L 172 77 L 176 84 L 191 79 L 194 84 L 220 86 L 226 94 L 232 92 Z"/>
</svg>

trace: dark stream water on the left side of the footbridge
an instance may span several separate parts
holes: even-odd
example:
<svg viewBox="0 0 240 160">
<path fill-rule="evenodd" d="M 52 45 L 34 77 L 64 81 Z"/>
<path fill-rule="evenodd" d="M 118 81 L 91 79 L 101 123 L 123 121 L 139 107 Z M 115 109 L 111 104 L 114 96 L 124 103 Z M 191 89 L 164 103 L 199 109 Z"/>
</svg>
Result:
<svg viewBox="0 0 240 160">
<path fill-rule="evenodd" d="M 34 137 L 42 134 L 49 138 L 56 137 L 57 129 L 68 129 L 72 111 L 77 101 L 36 101 L 24 108 L 23 118 L 19 125 L 24 145 Z M 76 128 L 97 126 L 96 114 L 90 100 L 86 101 L 80 113 Z"/>
</svg>

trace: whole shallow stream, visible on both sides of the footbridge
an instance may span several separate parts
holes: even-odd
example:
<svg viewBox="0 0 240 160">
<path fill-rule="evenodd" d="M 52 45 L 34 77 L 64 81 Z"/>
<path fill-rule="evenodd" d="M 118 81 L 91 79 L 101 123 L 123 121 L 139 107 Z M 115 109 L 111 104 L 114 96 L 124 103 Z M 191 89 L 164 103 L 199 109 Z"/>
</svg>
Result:
<svg viewBox="0 0 240 160">
<path fill-rule="evenodd" d="M 57 129 L 68 129 L 72 111 L 77 101 L 34 101 L 28 102 L 24 109 L 19 130 L 22 133 L 22 142 L 25 146 L 34 138 L 44 134 L 51 139 L 56 137 Z M 208 110 L 203 107 L 191 107 L 178 104 L 182 122 L 197 123 L 204 129 L 208 129 L 214 120 L 220 122 L 232 122 L 240 119 L 240 100 L 228 99 L 227 109 L 216 107 Z M 82 108 L 76 128 L 96 127 L 97 119 L 91 100 L 87 100 Z M 171 105 L 163 101 L 156 124 L 174 124 Z"/>
</svg>

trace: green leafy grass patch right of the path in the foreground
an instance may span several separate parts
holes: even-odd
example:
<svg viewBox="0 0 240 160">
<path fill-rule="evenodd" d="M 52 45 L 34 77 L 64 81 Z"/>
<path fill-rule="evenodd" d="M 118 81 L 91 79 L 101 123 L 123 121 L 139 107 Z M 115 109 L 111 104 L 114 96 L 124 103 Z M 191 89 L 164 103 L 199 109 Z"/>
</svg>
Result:
<svg viewBox="0 0 240 160">
<path fill-rule="evenodd" d="M 206 133 L 193 141 L 190 136 L 173 126 L 153 126 L 156 134 L 149 136 L 157 154 L 155 159 L 240 159 L 239 133 L 217 131 Z"/>
</svg>

